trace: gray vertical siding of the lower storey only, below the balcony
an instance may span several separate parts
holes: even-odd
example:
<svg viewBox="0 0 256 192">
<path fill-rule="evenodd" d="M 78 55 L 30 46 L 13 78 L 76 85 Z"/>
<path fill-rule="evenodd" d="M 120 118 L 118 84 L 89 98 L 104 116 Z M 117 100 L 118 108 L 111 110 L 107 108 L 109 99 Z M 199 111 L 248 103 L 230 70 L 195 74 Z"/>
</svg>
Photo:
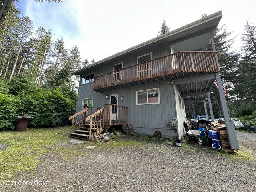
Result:
<svg viewBox="0 0 256 192">
<path fill-rule="evenodd" d="M 160 104 L 136 105 L 136 91 L 159 88 Z M 88 90 L 86 90 L 88 89 Z M 152 136 L 154 131 L 159 130 L 162 136 L 169 138 L 177 136 L 169 124 L 170 118 L 176 118 L 174 87 L 167 81 L 160 80 L 153 83 L 127 87 L 98 93 L 92 90 L 92 83 L 80 86 L 76 110 L 82 110 L 82 99 L 93 98 L 93 107 L 102 108 L 109 103 L 106 94 L 118 94 L 118 105 L 128 106 L 128 122 L 134 126 L 136 134 Z M 121 101 L 121 96 L 124 100 Z"/>
</svg>

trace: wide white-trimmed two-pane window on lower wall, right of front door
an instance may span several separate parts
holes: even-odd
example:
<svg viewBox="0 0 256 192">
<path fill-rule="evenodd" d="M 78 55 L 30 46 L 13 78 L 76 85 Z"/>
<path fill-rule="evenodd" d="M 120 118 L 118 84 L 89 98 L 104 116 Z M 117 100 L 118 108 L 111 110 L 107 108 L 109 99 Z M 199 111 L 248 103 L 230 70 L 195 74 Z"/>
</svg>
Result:
<svg viewBox="0 0 256 192">
<path fill-rule="evenodd" d="M 158 104 L 160 103 L 159 88 L 136 91 L 136 104 Z"/>
</svg>

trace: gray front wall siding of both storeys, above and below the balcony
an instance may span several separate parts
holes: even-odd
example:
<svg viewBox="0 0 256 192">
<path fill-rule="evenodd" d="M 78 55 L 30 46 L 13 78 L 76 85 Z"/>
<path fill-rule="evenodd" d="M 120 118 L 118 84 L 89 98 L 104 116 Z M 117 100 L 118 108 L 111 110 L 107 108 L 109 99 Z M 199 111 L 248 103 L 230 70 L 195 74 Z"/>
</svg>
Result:
<svg viewBox="0 0 256 192">
<path fill-rule="evenodd" d="M 152 53 L 152 59 L 159 58 L 170 54 L 170 44 L 164 44 L 162 48 L 155 47 L 150 50 L 145 50 L 139 54 L 123 58 L 122 60 L 116 60 L 110 64 L 104 66 L 97 66 L 90 68 L 84 75 L 95 73 L 95 76 L 113 72 L 113 66 L 118 63 L 123 63 L 123 68 L 137 64 L 137 57 Z M 84 76 L 82 75 L 82 76 Z M 81 78 L 82 78 L 81 76 Z M 106 99 L 106 95 L 118 94 L 118 105 L 128 106 L 128 122 L 134 126 L 134 132 L 136 134 L 150 135 L 152 136 L 154 131 L 158 130 L 165 138 L 176 137 L 177 133 L 174 132 L 172 126 L 170 126 L 170 119 L 177 118 L 176 115 L 176 103 L 174 85 L 168 84 L 165 80 L 148 82 L 147 84 L 126 87 L 122 89 L 116 89 L 106 92 L 96 92 L 92 90 L 93 83 L 81 85 L 78 91 L 78 100 L 76 106 L 76 112 L 82 110 L 82 100 L 84 98 L 93 98 L 93 107 L 102 108 L 104 104 L 109 104 L 109 100 Z M 147 90 L 152 88 L 159 88 L 160 104 L 145 104 L 136 105 L 136 91 Z M 124 100 L 121 101 L 121 96 Z"/>
</svg>

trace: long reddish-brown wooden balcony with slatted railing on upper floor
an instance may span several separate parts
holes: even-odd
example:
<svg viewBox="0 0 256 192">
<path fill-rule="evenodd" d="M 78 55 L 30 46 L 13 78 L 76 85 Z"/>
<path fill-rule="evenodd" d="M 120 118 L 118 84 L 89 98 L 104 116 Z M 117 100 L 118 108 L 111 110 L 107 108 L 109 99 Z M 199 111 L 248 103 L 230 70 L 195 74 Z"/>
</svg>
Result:
<svg viewBox="0 0 256 192">
<path fill-rule="evenodd" d="M 178 52 L 148 62 L 122 68 L 114 72 L 94 77 L 93 90 L 102 92 L 108 87 L 133 82 L 153 82 L 159 77 L 174 79 L 174 74 L 182 73 L 213 73 L 220 72 L 217 52 L 215 51 L 193 51 Z M 119 86 L 120 87 L 120 86 Z M 106 89 L 108 90 L 108 89 Z"/>
</svg>

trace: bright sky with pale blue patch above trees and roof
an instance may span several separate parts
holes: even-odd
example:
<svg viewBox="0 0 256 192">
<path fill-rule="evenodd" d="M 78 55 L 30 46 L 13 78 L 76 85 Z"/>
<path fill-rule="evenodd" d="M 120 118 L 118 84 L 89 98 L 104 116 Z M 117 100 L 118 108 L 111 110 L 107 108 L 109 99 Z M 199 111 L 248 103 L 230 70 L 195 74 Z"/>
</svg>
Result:
<svg viewBox="0 0 256 192">
<path fill-rule="evenodd" d="M 238 35 L 233 48 L 241 46 L 246 20 L 256 25 L 255 0 L 63 0 L 42 4 L 21 0 L 18 7 L 35 28 L 52 30 L 54 40 L 63 36 L 66 48 L 75 45 L 81 58 L 95 61 L 156 37 L 162 21 L 170 30 L 198 20 L 201 14 L 222 10 L 220 25 Z M 245 3 L 246 2 L 246 3 Z"/>
</svg>

